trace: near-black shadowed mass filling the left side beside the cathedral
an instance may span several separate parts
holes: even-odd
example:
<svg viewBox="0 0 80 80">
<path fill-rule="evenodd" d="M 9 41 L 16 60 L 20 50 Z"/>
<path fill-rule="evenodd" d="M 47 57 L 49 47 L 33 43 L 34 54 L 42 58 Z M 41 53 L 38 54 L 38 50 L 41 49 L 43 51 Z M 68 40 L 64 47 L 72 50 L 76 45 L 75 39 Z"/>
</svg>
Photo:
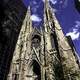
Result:
<svg viewBox="0 0 80 80">
<path fill-rule="evenodd" d="M 6 80 L 27 11 L 21 0 L 4 1 L 0 1 L 0 80 Z"/>
</svg>

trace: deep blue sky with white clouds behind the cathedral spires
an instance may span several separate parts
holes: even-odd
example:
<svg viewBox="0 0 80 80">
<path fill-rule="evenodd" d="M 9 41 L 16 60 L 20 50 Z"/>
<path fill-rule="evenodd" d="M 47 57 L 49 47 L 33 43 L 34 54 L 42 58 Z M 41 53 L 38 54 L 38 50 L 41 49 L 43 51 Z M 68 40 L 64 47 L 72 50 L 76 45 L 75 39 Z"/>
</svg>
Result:
<svg viewBox="0 0 80 80">
<path fill-rule="evenodd" d="M 31 6 L 33 25 L 40 27 L 43 23 L 43 5 L 45 0 L 23 0 L 24 5 Z M 48 0 L 65 35 L 70 35 L 80 56 L 80 14 L 75 8 L 74 0 Z"/>
</svg>

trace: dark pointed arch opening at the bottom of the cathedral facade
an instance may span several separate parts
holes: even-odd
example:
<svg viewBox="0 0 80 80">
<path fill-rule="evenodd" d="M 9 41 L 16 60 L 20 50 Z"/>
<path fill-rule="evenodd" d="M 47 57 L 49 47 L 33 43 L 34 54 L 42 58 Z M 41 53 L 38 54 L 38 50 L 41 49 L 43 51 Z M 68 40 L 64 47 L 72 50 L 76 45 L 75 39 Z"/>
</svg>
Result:
<svg viewBox="0 0 80 80">
<path fill-rule="evenodd" d="M 26 77 L 26 80 L 41 80 L 41 69 L 36 60 L 33 60 L 30 64 Z"/>
</svg>

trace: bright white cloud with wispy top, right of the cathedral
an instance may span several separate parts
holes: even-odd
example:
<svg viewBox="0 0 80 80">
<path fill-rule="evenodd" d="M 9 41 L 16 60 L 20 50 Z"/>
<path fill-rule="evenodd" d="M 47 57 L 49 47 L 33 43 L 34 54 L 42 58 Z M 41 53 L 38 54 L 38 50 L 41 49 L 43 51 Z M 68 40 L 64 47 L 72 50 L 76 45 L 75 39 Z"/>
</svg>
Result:
<svg viewBox="0 0 80 80">
<path fill-rule="evenodd" d="M 72 31 L 66 33 L 66 36 L 71 36 L 72 40 L 79 39 L 80 37 L 80 32 L 79 32 L 80 21 L 76 21 L 75 23 L 76 25 L 74 26 L 74 28 L 72 28 Z"/>
</svg>

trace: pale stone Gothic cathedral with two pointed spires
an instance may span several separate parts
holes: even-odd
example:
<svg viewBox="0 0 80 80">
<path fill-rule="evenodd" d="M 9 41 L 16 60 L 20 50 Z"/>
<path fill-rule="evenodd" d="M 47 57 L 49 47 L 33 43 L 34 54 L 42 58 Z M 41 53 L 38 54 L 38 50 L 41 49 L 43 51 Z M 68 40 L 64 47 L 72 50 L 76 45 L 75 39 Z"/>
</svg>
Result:
<svg viewBox="0 0 80 80">
<path fill-rule="evenodd" d="M 33 27 L 30 6 L 23 20 L 7 80 L 80 80 L 80 66 L 48 0 L 44 23 Z"/>
</svg>

